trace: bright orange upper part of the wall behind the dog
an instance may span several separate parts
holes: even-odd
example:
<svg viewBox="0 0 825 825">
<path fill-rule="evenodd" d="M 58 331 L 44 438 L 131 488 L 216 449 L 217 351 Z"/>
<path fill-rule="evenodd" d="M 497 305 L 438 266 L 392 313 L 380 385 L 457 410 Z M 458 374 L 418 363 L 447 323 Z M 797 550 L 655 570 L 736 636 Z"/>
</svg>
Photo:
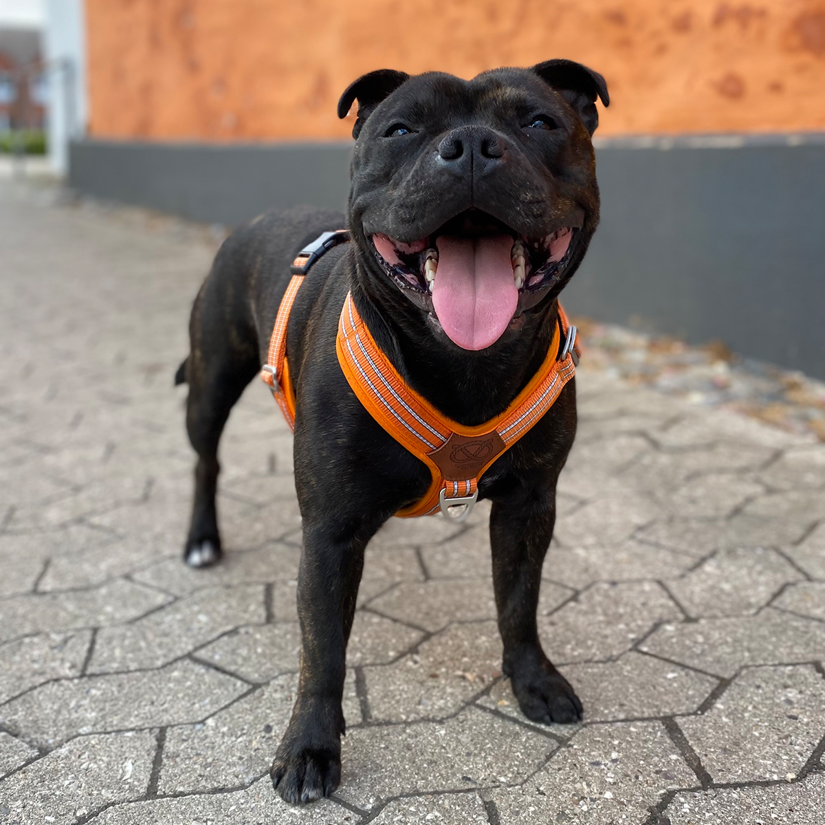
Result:
<svg viewBox="0 0 825 825">
<path fill-rule="evenodd" d="M 92 134 L 334 139 L 374 68 L 551 57 L 607 78 L 600 134 L 825 129 L 825 0 L 86 0 Z"/>
</svg>

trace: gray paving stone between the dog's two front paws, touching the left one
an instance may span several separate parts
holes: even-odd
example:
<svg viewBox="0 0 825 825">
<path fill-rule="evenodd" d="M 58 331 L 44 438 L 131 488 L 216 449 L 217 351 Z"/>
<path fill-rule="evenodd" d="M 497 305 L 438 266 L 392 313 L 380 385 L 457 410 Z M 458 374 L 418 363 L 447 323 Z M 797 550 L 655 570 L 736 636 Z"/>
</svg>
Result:
<svg viewBox="0 0 825 825">
<path fill-rule="evenodd" d="M 371 808 L 397 794 L 515 784 L 556 747 L 537 728 L 477 708 L 444 723 L 356 728 L 342 742 L 338 795 Z"/>
</svg>

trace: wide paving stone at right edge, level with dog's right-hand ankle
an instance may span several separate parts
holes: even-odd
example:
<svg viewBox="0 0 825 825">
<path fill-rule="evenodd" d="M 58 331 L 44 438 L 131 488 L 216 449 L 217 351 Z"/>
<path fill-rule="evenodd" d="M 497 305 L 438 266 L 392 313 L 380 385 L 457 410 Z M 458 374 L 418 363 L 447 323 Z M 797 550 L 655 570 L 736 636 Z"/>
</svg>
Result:
<svg viewBox="0 0 825 825">
<path fill-rule="evenodd" d="M 729 677 L 742 665 L 822 660 L 825 633 L 821 622 L 767 607 L 752 617 L 662 625 L 640 648 Z"/>
</svg>

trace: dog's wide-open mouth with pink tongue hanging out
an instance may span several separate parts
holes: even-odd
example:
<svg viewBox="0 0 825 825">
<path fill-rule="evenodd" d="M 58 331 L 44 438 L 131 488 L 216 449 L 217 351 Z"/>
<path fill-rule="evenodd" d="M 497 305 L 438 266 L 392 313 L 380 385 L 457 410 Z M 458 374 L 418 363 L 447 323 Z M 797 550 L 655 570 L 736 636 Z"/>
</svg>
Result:
<svg viewBox="0 0 825 825">
<path fill-rule="evenodd" d="M 580 228 L 527 238 L 479 210 L 412 243 L 370 236 L 382 269 L 465 350 L 483 350 L 561 281 Z"/>
</svg>

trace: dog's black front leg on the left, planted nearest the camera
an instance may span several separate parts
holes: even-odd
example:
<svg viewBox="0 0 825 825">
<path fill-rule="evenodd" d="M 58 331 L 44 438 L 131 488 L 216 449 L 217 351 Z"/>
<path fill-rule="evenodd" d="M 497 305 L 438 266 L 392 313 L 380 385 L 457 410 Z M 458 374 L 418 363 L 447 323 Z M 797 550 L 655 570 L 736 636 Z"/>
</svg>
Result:
<svg viewBox="0 0 825 825">
<path fill-rule="evenodd" d="M 342 526 L 342 524 L 344 526 Z M 378 529 L 333 523 L 330 514 L 304 519 L 298 573 L 301 665 L 298 695 L 270 775 L 286 802 L 328 796 L 341 780 L 341 736 L 347 639 L 364 567 L 364 549 Z"/>
</svg>

